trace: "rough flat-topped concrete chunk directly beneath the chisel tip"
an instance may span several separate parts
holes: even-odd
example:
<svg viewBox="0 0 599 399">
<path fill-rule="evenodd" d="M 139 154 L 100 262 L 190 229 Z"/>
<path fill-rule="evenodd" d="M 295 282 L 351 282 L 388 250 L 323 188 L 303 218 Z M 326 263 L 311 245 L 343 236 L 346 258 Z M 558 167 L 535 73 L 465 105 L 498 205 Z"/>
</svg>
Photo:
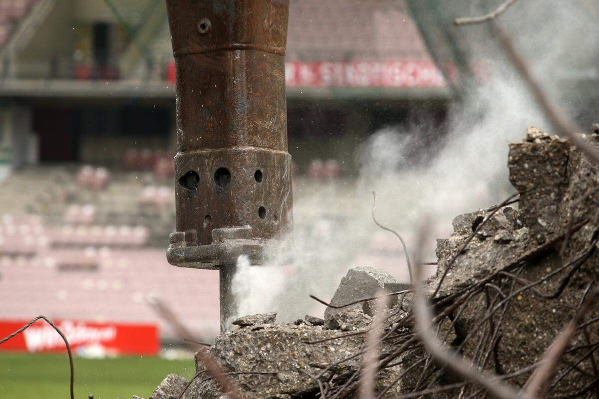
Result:
<svg viewBox="0 0 599 399">
<path fill-rule="evenodd" d="M 362 313 L 363 314 L 363 313 Z M 307 324 L 271 324 L 259 331 L 245 328 L 228 331 L 214 340 L 210 355 L 224 370 L 272 371 L 273 374 L 239 374 L 231 376 L 246 399 L 305 397 L 305 392 L 315 392 L 315 376 L 329 364 L 359 352 L 364 334 L 341 339 L 324 340 L 339 336 L 335 330 Z M 338 365 L 338 372 L 355 370 L 359 357 Z M 198 364 L 198 370 L 203 369 Z M 213 379 L 193 386 L 193 399 L 219 399 Z"/>
</svg>

